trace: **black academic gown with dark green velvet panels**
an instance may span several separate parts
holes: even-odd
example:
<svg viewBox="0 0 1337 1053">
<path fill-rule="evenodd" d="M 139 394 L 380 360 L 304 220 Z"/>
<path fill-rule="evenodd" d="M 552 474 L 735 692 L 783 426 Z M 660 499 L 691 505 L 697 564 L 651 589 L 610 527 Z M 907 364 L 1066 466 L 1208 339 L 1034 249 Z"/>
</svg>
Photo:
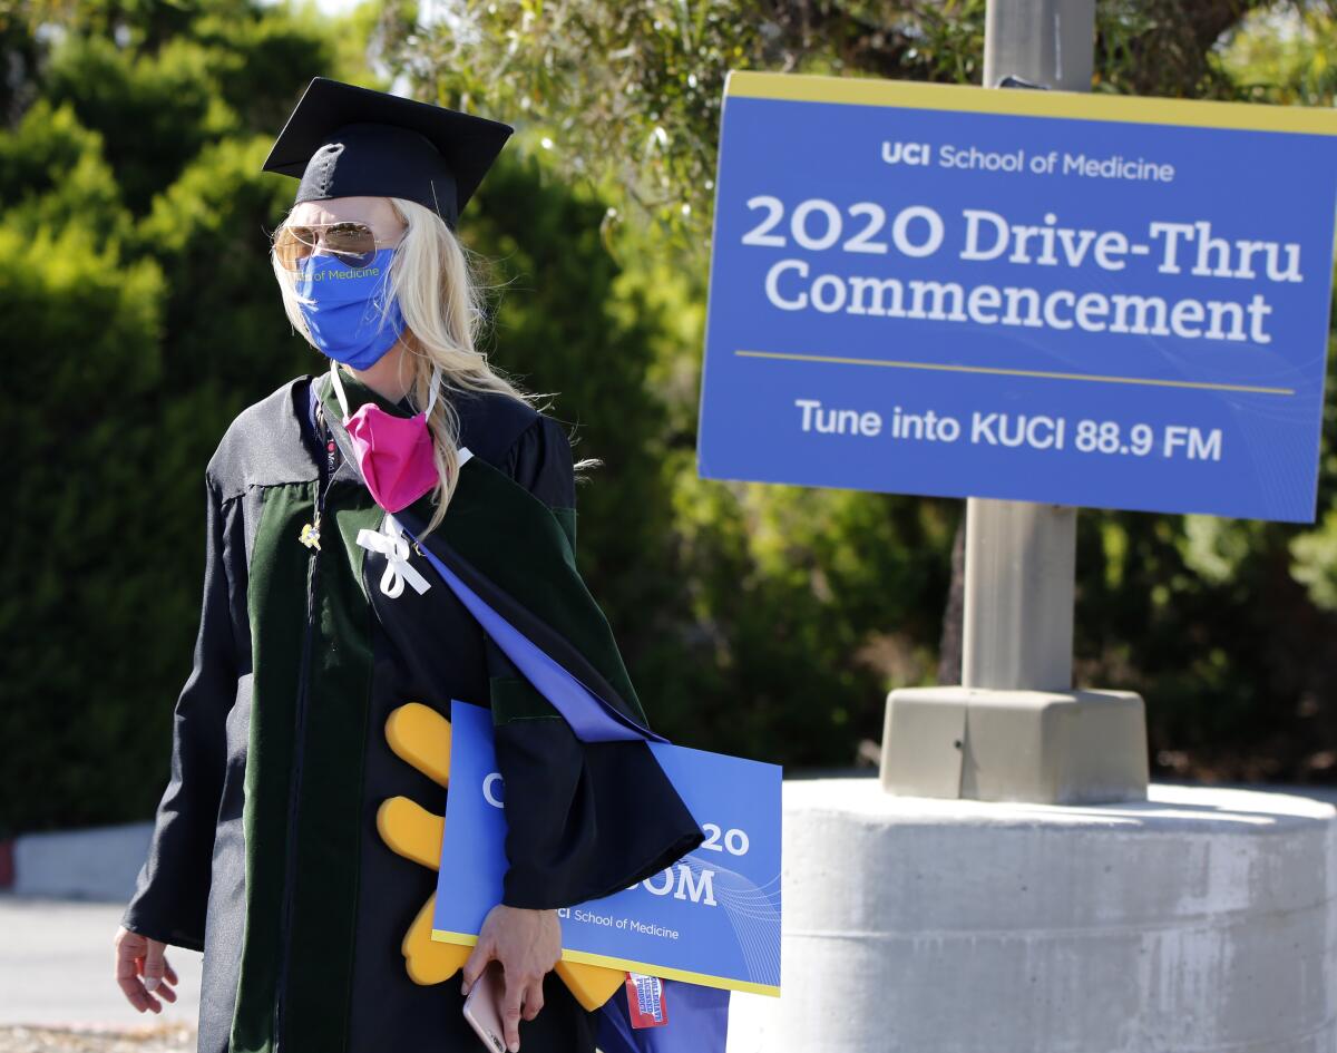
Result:
<svg viewBox="0 0 1337 1053">
<path fill-rule="evenodd" d="M 345 374 L 349 410 L 392 404 Z M 443 392 L 465 465 L 422 545 L 606 703 L 644 714 L 575 569 L 563 428 L 503 394 Z M 324 420 L 314 413 L 324 406 Z M 317 425 L 328 428 L 318 433 Z M 401 941 L 435 871 L 381 841 L 381 802 L 444 814 L 444 791 L 386 744 L 389 714 L 491 706 L 508 823 L 501 902 L 571 906 L 628 887 L 702 831 L 644 742 L 584 743 L 421 553 L 432 585 L 380 588 L 380 529 L 328 374 L 238 416 L 206 472 L 207 549 L 194 668 L 174 716 L 171 776 L 127 929 L 203 951 L 199 1053 L 475 1053 L 459 975 L 420 986 Z M 320 548 L 302 528 L 320 508 Z M 421 535 L 422 497 L 397 518 Z M 445 861 L 468 866 L 468 859 Z M 595 1014 L 556 973 L 521 1021 L 527 1053 L 590 1053 Z"/>
</svg>

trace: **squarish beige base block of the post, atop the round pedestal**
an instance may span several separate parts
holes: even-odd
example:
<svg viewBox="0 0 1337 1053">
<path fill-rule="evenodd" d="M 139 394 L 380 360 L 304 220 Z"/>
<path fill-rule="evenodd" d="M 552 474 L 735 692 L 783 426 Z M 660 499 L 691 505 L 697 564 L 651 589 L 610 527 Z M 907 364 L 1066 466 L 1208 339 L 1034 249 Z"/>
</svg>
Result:
<svg viewBox="0 0 1337 1053">
<path fill-rule="evenodd" d="M 1144 800 L 1147 723 L 1131 691 L 902 688 L 886 698 L 882 787 L 913 796 Z"/>
</svg>

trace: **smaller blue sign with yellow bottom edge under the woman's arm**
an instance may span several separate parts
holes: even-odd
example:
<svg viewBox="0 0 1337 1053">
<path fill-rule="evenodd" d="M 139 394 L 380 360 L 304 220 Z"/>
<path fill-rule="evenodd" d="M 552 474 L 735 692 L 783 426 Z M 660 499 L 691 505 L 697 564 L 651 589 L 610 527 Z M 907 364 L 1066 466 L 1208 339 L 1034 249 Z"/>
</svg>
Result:
<svg viewBox="0 0 1337 1053">
<path fill-rule="evenodd" d="M 562 957 L 778 996 L 781 768 L 667 743 L 650 750 L 706 841 L 631 889 L 558 911 Z M 492 714 L 453 700 L 433 939 L 476 943 L 501 902 L 505 788 L 496 767 Z"/>
</svg>

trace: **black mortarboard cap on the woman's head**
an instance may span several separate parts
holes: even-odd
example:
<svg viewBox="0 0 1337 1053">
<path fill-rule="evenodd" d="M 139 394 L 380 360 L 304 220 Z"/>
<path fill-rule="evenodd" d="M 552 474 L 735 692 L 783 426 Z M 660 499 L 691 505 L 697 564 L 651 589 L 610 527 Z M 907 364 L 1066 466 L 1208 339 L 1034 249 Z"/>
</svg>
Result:
<svg viewBox="0 0 1337 1053">
<path fill-rule="evenodd" d="M 294 204 L 326 198 L 406 198 L 451 230 L 479 188 L 509 124 L 313 78 L 263 171 L 299 178 Z"/>
</svg>

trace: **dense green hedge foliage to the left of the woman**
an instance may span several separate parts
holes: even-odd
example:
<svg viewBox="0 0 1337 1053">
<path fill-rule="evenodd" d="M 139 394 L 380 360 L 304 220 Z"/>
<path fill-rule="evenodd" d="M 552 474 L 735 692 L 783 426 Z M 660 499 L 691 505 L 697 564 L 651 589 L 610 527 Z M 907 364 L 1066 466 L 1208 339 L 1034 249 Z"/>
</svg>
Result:
<svg viewBox="0 0 1337 1053">
<path fill-rule="evenodd" d="M 302 362 L 263 285 L 283 187 L 259 178 L 254 132 L 332 53 L 329 28 L 226 0 L 27 13 L 0 35 L 11 829 L 140 816 L 162 791 L 203 465 Z"/>
</svg>

